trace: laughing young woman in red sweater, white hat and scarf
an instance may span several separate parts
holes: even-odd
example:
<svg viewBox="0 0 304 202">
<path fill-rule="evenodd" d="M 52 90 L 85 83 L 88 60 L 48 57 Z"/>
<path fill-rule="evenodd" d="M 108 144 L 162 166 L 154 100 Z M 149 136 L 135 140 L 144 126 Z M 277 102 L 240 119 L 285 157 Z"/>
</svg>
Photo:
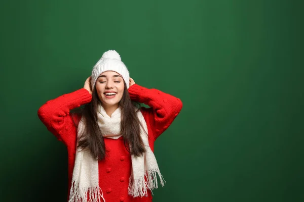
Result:
<svg viewBox="0 0 304 202">
<path fill-rule="evenodd" d="M 81 113 L 70 113 L 82 105 Z M 165 182 L 154 142 L 181 108 L 179 98 L 135 84 L 120 55 L 105 52 L 84 88 L 49 100 L 38 111 L 67 147 L 68 201 L 152 201 L 158 178 Z"/>
</svg>

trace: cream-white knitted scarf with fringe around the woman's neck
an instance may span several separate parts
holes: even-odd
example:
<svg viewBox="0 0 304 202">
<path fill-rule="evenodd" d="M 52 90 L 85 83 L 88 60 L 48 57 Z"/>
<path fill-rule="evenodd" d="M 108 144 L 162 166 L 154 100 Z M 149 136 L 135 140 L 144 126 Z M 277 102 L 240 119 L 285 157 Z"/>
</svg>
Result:
<svg viewBox="0 0 304 202">
<path fill-rule="evenodd" d="M 164 179 L 160 173 L 156 158 L 151 150 L 147 136 L 147 125 L 140 112 L 137 113 L 139 121 L 143 125 L 140 127 L 140 137 L 142 138 L 146 152 L 141 157 L 131 155 L 132 171 L 129 179 L 128 193 L 134 197 L 147 196 L 147 189 L 158 188 L 157 174 L 159 175 L 162 186 Z M 103 137 L 118 139 L 121 137 L 121 109 L 118 108 L 109 117 L 104 108 L 98 106 L 98 126 L 102 131 Z M 85 128 L 83 118 L 80 120 L 77 130 L 79 136 Z M 130 148 L 131 149 L 131 148 Z M 144 179 L 146 177 L 146 181 Z M 70 189 L 69 202 L 84 202 L 89 201 L 100 202 L 103 197 L 103 192 L 99 187 L 98 179 L 98 161 L 93 158 L 88 150 L 77 148 L 75 156 L 75 165 L 73 169 L 72 185 Z M 165 181 L 166 182 L 166 181 Z"/>
</svg>

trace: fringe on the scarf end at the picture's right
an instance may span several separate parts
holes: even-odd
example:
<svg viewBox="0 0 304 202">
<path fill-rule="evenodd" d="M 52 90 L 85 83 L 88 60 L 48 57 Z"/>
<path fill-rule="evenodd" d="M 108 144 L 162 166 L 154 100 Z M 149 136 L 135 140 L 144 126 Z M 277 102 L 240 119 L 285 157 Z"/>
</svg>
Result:
<svg viewBox="0 0 304 202">
<path fill-rule="evenodd" d="M 144 172 L 144 177 L 133 179 L 133 175 L 129 179 L 128 193 L 134 197 L 137 196 L 147 196 L 147 188 L 152 191 L 152 189 L 158 188 L 157 174 L 160 178 L 162 186 L 165 185 L 165 179 L 159 170 L 148 170 Z M 153 194 L 153 192 L 152 192 Z"/>
</svg>

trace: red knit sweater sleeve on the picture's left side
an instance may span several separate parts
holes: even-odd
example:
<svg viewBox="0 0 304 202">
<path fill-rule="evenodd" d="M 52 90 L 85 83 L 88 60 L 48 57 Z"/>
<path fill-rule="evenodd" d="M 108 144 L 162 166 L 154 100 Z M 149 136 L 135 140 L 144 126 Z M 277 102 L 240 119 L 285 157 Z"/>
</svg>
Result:
<svg viewBox="0 0 304 202">
<path fill-rule="evenodd" d="M 65 145 L 73 143 L 75 134 L 71 131 L 74 126 L 70 110 L 91 102 L 92 95 L 85 88 L 61 95 L 49 100 L 38 110 L 40 120 L 46 125 L 58 140 Z M 77 121 L 77 120 L 76 120 Z"/>
</svg>

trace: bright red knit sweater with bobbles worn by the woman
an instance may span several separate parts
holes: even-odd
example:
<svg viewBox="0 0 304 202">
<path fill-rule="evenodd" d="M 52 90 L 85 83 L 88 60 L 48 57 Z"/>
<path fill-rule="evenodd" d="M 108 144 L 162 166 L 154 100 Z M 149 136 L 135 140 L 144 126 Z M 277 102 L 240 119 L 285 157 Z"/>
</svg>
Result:
<svg viewBox="0 0 304 202">
<path fill-rule="evenodd" d="M 141 113 L 147 124 L 149 145 L 154 152 L 154 141 L 170 126 L 178 115 L 182 108 L 182 102 L 179 98 L 170 94 L 157 89 L 148 89 L 138 84 L 130 86 L 128 91 L 132 100 L 150 107 L 141 107 Z M 38 110 L 40 120 L 67 147 L 68 195 L 77 145 L 77 127 L 73 124 L 73 120 L 78 123 L 81 118 L 77 114 L 72 116 L 69 111 L 90 103 L 91 99 L 92 95 L 89 91 L 81 88 L 49 100 Z M 126 150 L 123 140 L 123 137 L 119 139 L 104 138 L 108 157 L 98 162 L 99 179 L 102 179 L 99 180 L 99 186 L 103 191 L 103 197 L 106 202 L 150 202 L 152 201 L 150 191 L 148 191 L 147 197 L 134 198 L 128 195 L 131 155 Z"/>
</svg>

